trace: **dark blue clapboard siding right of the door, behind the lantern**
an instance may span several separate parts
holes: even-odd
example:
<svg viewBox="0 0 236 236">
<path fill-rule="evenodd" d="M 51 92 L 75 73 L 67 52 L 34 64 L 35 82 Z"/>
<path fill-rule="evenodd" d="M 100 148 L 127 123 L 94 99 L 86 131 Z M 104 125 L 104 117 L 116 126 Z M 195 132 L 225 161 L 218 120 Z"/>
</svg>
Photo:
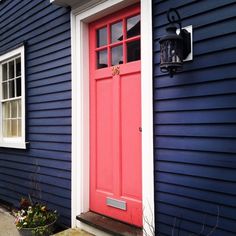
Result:
<svg viewBox="0 0 236 236">
<path fill-rule="evenodd" d="M 170 78 L 158 40 L 176 7 L 194 60 Z M 160 235 L 236 235 L 236 2 L 153 1 L 155 211 Z M 203 227 L 204 226 L 204 227 Z M 202 234 L 199 234 L 202 231 Z"/>
</svg>

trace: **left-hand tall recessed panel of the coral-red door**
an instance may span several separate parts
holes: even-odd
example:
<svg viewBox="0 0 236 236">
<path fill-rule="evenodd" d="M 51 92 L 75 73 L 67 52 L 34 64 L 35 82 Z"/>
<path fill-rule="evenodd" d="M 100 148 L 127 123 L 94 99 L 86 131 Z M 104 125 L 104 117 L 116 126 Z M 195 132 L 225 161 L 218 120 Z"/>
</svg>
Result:
<svg viewBox="0 0 236 236">
<path fill-rule="evenodd" d="M 113 192 L 112 174 L 112 80 L 103 79 L 96 83 L 96 188 Z M 104 128 L 106 127 L 106 128 Z M 106 163 L 106 165 L 104 165 Z"/>
</svg>

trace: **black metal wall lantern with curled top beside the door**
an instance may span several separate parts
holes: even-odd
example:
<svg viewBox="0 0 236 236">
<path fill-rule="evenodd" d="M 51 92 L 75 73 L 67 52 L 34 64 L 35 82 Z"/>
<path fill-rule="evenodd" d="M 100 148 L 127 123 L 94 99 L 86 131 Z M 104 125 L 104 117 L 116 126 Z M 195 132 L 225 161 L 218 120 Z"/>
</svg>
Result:
<svg viewBox="0 0 236 236">
<path fill-rule="evenodd" d="M 191 34 L 186 29 L 182 29 L 181 18 L 176 9 L 169 9 L 167 19 L 169 21 L 166 27 L 167 35 L 159 41 L 160 68 L 161 72 L 168 72 L 170 77 L 173 77 L 173 74 L 182 70 L 183 60 L 191 52 Z M 179 34 L 176 33 L 176 25 L 179 25 Z"/>
</svg>

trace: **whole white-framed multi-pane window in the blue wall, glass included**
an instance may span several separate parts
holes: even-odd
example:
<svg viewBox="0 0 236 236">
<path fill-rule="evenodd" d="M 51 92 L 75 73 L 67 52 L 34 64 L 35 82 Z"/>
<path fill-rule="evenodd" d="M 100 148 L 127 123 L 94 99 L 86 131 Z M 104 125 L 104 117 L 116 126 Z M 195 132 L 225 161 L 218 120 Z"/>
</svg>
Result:
<svg viewBox="0 0 236 236">
<path fill-rule="evenodd" d="M 0 56 L 0 147 L 26 147 L 24 71 L 24 46 Z"/>
</svg>

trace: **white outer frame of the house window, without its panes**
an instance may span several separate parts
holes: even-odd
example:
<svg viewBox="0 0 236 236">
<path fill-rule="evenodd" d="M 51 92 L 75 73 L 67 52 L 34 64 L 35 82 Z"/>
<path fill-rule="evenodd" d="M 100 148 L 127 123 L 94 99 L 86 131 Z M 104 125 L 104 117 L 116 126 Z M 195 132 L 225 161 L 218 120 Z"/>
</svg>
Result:
<svg viewBox="0 0 236 236">
<path fill-rule="evenodd" d="M 2 111 L 2 64 L 15 57 L 21 57 L 21 137 L 3 137 Z M 25 47 L 24 45 L 0 55 L 0 147 L 26 149 L 25 142 Z"/>
</svg>

